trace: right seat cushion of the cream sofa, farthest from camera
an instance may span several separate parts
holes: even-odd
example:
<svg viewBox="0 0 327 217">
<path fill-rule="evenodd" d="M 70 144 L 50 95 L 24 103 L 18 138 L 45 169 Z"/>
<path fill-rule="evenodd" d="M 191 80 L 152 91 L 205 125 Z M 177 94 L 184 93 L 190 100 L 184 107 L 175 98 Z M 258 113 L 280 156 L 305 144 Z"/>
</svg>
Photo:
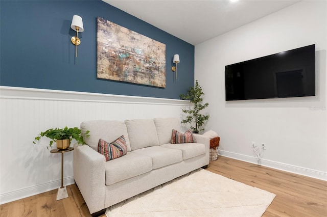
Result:
<svg viewBox="0 0 327 217">
<path fill-rule="evenodd" d="M 181 143 L 181 144 L 164 144 L 160 147 L 173 148 L 181 150 L 183 153 L 183 160 L 205 154 L 205 145 L 201 143 Z"/>
</svg>

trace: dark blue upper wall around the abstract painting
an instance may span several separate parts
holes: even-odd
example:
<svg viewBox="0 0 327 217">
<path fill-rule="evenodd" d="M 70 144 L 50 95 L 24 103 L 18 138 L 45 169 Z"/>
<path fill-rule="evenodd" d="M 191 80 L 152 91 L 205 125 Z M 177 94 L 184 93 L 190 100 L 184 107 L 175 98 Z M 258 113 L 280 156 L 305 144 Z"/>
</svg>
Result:
<svg viewBox="0 0 327 217">
<path fill-rule="evenodd" d="M 75 14 L 84 25 L 78 58 L 71 43 Z M 0 16 L 1 86 L 179 99 L 194 85 L 193 45 L 102 1 L 0 1 Z M 98 16 L 166 44 L 166 88 L 97 78 Z"/>
</svg>

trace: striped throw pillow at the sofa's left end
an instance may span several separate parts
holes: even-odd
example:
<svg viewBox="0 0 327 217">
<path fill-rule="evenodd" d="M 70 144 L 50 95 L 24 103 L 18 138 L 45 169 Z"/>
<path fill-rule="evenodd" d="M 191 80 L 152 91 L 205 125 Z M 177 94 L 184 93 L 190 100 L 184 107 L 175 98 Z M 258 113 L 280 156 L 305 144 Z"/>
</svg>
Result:
<svg viewBox="0 0 327 217">
<path fill-rule="evenodd" d="M 98 152 L 106 157 L 106 161 L 125 155 L 127 153 L 127 145 L 124 135 L 111 143 L 100 139 L 98 142 Z"/>
</svg>

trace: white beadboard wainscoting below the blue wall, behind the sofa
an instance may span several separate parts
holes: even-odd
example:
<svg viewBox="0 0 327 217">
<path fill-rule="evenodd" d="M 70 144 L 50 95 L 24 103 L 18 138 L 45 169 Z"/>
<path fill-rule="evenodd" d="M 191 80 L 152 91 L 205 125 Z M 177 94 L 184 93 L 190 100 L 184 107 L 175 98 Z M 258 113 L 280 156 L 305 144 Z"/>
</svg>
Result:
<svg viewBox="0 0 327 217">
<path fill-rule="evenodd" d="M 189 101 L 0 87 L 0 204 L 61 186 L 61 154 L 32 142 L 40 131 L 85 120 L 176 117 Z M 92 132 L 90 132 L 92 133 Z M 55 147 L 55 145 L 54 145 Z M 64 185 L 74 183 L 73 151 L 64 154 Z"/>
</svg>

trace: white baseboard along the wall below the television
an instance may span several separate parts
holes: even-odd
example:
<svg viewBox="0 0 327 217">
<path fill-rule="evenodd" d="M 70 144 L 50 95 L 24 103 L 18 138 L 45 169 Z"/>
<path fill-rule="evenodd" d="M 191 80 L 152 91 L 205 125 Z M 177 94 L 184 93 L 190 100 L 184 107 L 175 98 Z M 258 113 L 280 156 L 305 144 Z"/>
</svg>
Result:
<svg viewBox="0 0 327 217">
<path fill-rule="evenodd" d="M 234 152 L 229 152 L 229 151 L 223 151 L 219 150 L 219 155 L 229 157 L 229 158 L 234 158 L 246 162 L 250 162 L 252 164 L 258 165 L 258 160 L 255 157 L 244 155 L 244 154 L 238 154 Z M 295 173 L 303 176 L 308 176 L 316 179 L 321 179 L 321 180 L 327 180 L 327 173 L 318 171 L 318 170 L 312 170 L 308 168 L 303 168 L 303 167 L 298 167 L 294 165 L 289 165 L 289 164 L 284 164 L 282 162 L 276 162 L 272 160 L 267 160 L 267 159 L 261 159 L 260 165 L 277 169 L 277 170 L 282 170 L 290 173 Z"/>
</svg>

